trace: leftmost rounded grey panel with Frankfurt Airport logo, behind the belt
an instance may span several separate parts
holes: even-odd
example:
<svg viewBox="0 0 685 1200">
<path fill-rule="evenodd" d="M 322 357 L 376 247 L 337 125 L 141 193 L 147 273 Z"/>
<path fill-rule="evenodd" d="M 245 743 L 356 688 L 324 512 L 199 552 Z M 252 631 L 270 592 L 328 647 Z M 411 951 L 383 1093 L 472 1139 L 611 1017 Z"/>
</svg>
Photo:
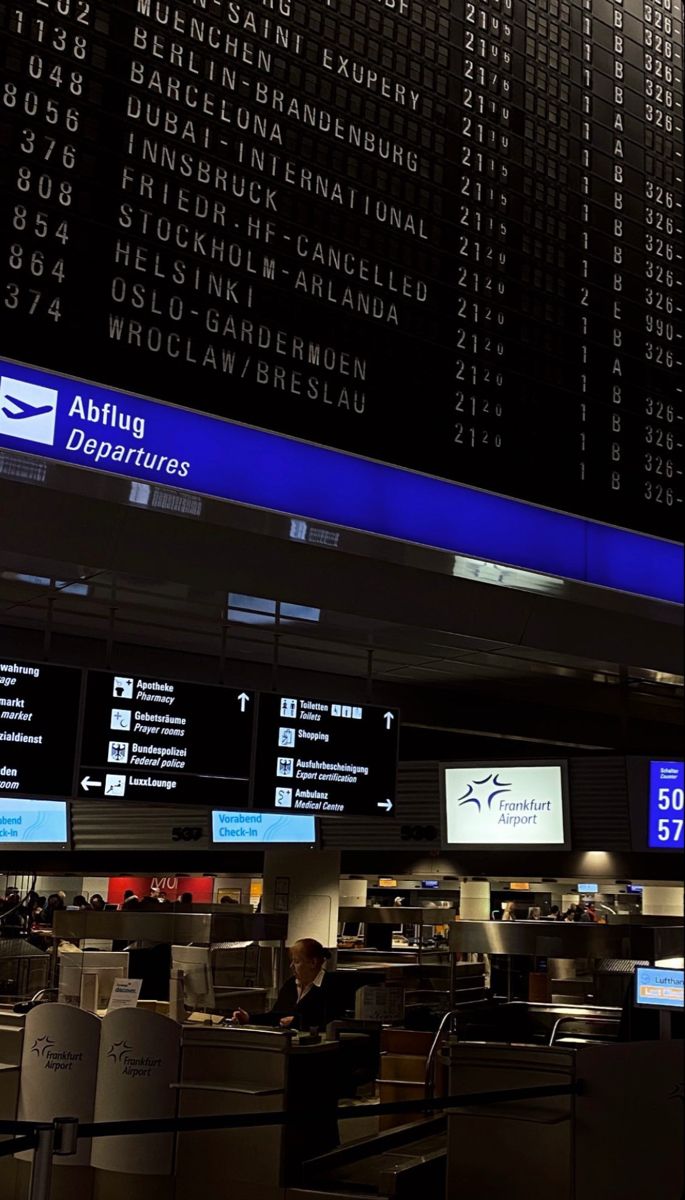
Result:
<svg viewBox="0 0 685 1200">
<path fill-rule="evenodd" d="M 37 1004 L 26 1016 L 19 1121 L 53 1121 L 56 1116 L 92 1121 L 101 1021 L 71 1004 Z M 24 1151 L 18 1158 L 32 1158 Z M 76 1154 L 55 1157 L 55 1166 L 85 1166 L 90 1140 L 80 1138 Z"/>
</svg>

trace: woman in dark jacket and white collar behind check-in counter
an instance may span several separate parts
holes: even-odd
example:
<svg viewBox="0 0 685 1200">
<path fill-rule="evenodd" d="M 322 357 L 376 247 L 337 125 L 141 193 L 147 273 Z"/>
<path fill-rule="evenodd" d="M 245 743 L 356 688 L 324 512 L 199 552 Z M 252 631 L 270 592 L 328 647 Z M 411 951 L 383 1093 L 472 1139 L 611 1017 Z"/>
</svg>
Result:
<svg viewBox="0 0 685 1200">
<path fill-rule="evenodd" d="M 302 937 L 290 948 L 293 977 L 281 988 L 270 1013 L 251 1016 L 236 1008 L 233 1020 L 239 1025 L 280 1025 L 282 1028 L 324 1030 L 329 1021 L 343 1015 L 334 977 L 326 974 L 330 953 L 313 937 Z"/>
</svg>

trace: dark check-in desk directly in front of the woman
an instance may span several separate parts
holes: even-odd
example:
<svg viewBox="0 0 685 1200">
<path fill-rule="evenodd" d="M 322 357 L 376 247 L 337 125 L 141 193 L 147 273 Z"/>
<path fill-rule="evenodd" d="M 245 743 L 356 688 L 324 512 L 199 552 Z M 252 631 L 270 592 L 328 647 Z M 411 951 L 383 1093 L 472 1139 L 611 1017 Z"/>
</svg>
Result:
<svg viewBox="0 0 685 1200">
<path fill-rule="evenodd" d="M 288 1112 L 289 1123 L 179 1134 L 176 1198 L 281 1200 L 299 1164 L 337 1140 L 337 1042 L 288 1031 L 184 1026 L 179 1116 Z M 298 1114 L 313 1109 L 316 1117 Z M 228 1190 L 227 1190 L 228 1189 Z"/>
</svg>

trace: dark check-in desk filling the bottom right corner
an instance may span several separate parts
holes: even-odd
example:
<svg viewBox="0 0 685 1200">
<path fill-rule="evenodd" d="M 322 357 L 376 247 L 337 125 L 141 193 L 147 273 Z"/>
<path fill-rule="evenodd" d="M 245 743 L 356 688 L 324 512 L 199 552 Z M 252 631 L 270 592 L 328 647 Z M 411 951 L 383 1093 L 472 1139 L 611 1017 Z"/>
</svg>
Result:
<svg viewBox="0 0 685 1200">
<path fill-rule="evenodd" d="M 581 1091 L 452 1110 L 447 1200 L 681 1200 L 681 1042 L 452 1042 L 449 1060 L 450 1094 L 554 1084 Z"/>
</svg>

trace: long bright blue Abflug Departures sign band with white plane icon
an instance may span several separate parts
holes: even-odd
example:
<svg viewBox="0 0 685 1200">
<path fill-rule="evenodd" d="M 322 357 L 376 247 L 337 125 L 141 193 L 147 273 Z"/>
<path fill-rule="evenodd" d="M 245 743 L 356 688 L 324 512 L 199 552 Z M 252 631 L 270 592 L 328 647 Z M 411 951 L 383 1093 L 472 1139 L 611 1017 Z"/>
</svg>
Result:
<svg viewBox="0 0 685 1200">
<path fill-rule="evenodd" d="M 683 546 L 0 361 L 0 446 L 681 604 Z"/>
</svg>

